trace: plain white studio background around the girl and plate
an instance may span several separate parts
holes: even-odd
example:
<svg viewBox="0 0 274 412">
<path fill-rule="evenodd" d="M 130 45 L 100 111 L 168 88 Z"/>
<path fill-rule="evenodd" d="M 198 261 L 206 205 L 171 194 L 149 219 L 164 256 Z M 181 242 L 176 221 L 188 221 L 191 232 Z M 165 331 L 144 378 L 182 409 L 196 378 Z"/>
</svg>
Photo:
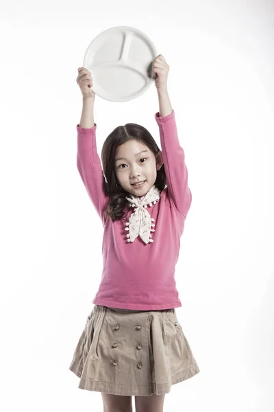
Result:
<svg viewBox="0 0 274 412">
<path fill-rule="evenodd" d="M 169 63 L 192 206 L 175 279 L 200 373 L 165 412 L 274 408 L 274 2 L 1 3 L 1 410 L 103 411 L 69 371 L 101 279 L 103 226 L 76 167 L 90 42 L 129 25 Z M 97 97 L 97 149 L 121 124 L 160 145 L 155 85 Z"/>
</svg>

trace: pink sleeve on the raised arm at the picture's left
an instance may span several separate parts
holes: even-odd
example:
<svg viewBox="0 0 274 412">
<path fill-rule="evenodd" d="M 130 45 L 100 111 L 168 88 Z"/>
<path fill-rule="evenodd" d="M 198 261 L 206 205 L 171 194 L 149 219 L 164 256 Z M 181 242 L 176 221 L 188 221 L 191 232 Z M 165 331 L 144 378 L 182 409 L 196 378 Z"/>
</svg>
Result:
<svg viewBox="0 0 274 412">
<path fill-rule="evenodd" d="M 108 203 L 109 196 L 105 195 L 103 182 L 105 177 L 101 166 L 101 161 L 97 152 L 96 129 L 97 124 L 92 128 L 82 128 L 77 124 L 77 169 L 88 192 L 97 214 L 99 214 L 103 225 L 105 217 L 103 210 Z"/>
</svg>

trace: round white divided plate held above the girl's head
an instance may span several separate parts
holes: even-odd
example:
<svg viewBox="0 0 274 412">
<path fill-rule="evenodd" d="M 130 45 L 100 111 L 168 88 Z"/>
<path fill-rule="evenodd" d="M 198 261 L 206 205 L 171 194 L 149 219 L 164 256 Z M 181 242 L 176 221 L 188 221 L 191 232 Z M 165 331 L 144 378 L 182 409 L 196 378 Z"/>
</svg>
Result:
<svg viewBox="0 0 274 412">
<path fill-rule="evenodd" d="M 84 56 L 92 91 L 110 102 L 127 102 L 145 93 L 154 82 L 157 57 L 148 36 L 129 26 L 112 27 L 95 37 Z"/>
</svg>

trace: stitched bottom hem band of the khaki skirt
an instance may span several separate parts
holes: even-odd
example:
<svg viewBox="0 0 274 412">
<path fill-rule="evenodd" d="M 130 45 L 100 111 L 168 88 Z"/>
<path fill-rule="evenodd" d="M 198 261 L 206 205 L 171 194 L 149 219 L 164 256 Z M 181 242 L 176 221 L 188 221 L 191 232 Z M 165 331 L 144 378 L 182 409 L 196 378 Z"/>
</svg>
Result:
<svg viewBox="0 0 274 412">
<path fill-rule="evenodd" d="M 77 367 L 71 365 L 69 369 L 79 378 L 81 378 L 82 371 Z M 99 380 L 90 380 L 81 378 L 79 382 L 79 389 L 85 389 L 87 391 L 110 393 L 111 395 L 121 396 L 151 396 L 151 395 L 164 395 L 171 391 L 171 385 L 183 382 L 186 379 L 192 378 L 199 374 L 199 367 L 197 363 L 191 365 L 183 371 L 177 372 L 177 374 L 171 377 L 171 382 L 165 382 L 160 384 L 151 383 L 150 385 L 121 385 L 108 382 L 101 382 Z"/>
</svg>

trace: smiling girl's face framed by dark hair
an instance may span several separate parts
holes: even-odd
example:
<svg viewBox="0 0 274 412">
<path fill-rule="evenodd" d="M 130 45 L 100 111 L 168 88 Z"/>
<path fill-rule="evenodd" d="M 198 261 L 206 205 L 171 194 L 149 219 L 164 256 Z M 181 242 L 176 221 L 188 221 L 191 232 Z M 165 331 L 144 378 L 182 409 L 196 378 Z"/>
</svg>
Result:
<svg viewBox="0 0 274 412">
<path fill-rule="evenodd" d="M 157 170 L 163 164 L 162 152 L 155 157 L 154 153 L 140 141 L 129 140 L 116 148 L 115 174 L 126 192 L 134 196 L 144 196 L 154 185 Z M 141 186 L 132 183 L 145 181 Z"/>
</svg>

